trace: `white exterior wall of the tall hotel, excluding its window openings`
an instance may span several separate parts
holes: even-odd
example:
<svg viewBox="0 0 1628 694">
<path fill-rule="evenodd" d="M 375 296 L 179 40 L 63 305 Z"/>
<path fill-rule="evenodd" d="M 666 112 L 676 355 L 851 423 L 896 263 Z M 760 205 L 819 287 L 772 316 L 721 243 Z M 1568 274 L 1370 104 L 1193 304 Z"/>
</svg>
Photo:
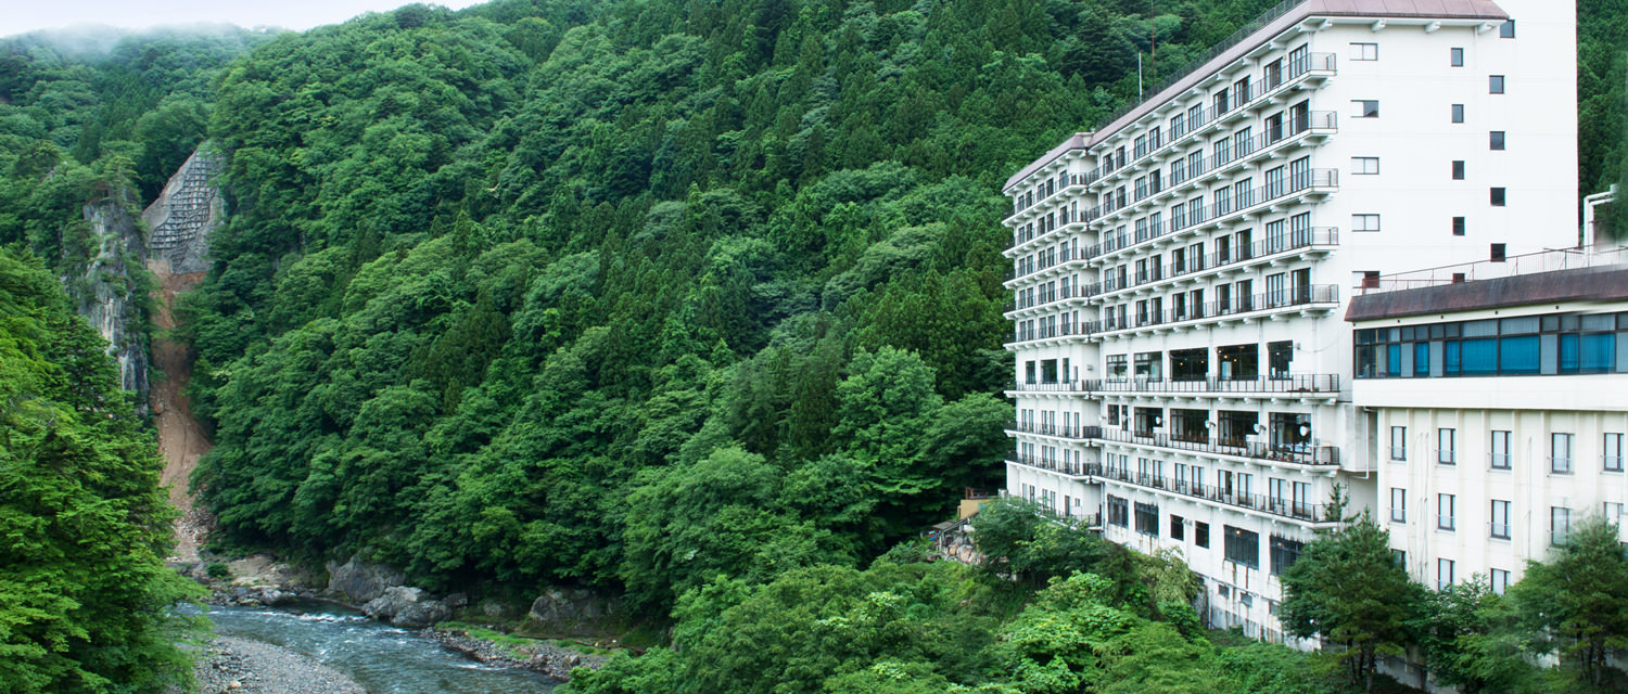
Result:
<svg viewBox="0 0 1628 694">
<path fill-rule="evenodd" d="M 1519 255 L 1576 242 L 1574 11 L 1558 13 L 1555 3 L 1535 0 L 1499 7 L 1516 18 L 1514 39 L 1501 37 L 1499 26 L 1486 21 L 1442 21 L 1433 28 L 1390 20 L 1376 28 L 1376 18 L 1309 18 L 1288 31 L 1252 37 L 1242 59 L 1206 67 L 1206 78 L 1156 98 L 1148 115 L 1114 132 L 1081 133 L 1013 180 L 1006 189 L 1014 200 L 1006 221 L 1014 231 L 1008 250 L 1014 278 L 1006 284 L 1014 293 L 1014 310 L 1008 314 L 1014 322 L 1008 345 L 1014 353 L 1014 387 L 1008 395 L 1016 401 L 1017 423 L 1011 431 L 1016 450 L 1008 462 L 1008 492 L 1045 501 L 1058 512 L 1101 514 L 1102 520 L 1110 520 L 1107 499 L 1123 499 L 1131 518 L 1125 527 L 1107 523 L 1109 540 L 1143 551 L 1180 548 L 1205 577 L 1213 621 L 1275 637 L 1281 587 L 1271 575 L 1270 538 L 1307 541 L 1327 523 L 1320 517 L 1260 512 L 1236 499 L 1195 497 L 1177 489 L 1192 478 L 1177 479 L 1175 466 L 1185 465 L 1188 475 L 1203 466 L 1205 484 L 1214 488 L 1221 488 L 1223 475 L 1231 473 L 1234 484 L 1239 475 L 1250 475 L 1250 491 L 1263 497 L 1273 478 L 1299 481 L 1311 489 L 1314 504 L 1325 502 L 1338 484 L 1351 509 L 1377 509 L 1385 465 L 1371 455 L 1368 440 L 1387 424 L 1351 406 L 1351 327 L 1341 320 L 1364 273 L 1486 260 L 1491 244 Z M 1464 49 L 1462 67 L 1451 65 L 1454 47 Z M 1363 57 L 1374 60 L 1353 60 Z M 1255 96 L 1270 80 L 1267 65 L 1276 60 L 1284 62 L 1284 86 Z M 1504 94 L 1490 93 L 1491 75 L 1504 76 Z M 1182 114 L 1185 120 L 1193 106 L 1211 109 L 1221 88 L 1231 98 L 1245 76 L 1255 98 L 1201 119 L 1197 135 L 1172 137 L 1172 117 Z M 1379 102 L 1377 117 L 1358 117 L 1358 101 L 1369 99 Z M 1301 104 L 1304 117 L 1291 111 Z M 1464 104 L 1462 124 L 1452 122 L 1452 104 Z M 1275 130 L 1275 115 L 1284 117 L 1283 138 L 1267 135 Z M 1154 127 L 1167 145 L 1138 156 L 1138 138 L 1151 140 Z M 1237 143 L 1245 127 L 1249 154 L 1213 166 L 1216 143 Z M 1501 151 L 1490 146 L 1493 130 L 1506 133 Z M 1117 156 L 1122 148 L 1123 163 Z M 1185 164 L 1195 151 L 1203 153 L 1205 172 L 1175 179 L 1172 164 Z M 1379 172 L 1366 174 L 1366 163 L 1354 158 L 1377 158 Z M 1465 163 L 1462 180 L 1452 177 L 1455 159 Z M 1280 167 L 1284 185 L 1275 187 L 1271 172 Z M 1307 172 L 1294 176 L 1296 167 Z M 1151 184 L 1154 171 L 1159 187 Z M 1504 205 L 1493 205 L 1493 187 L 1504 189 Z M 1219 221 L 1210 221 L 1221 189 L 1228 192 L 1219 195 L 1249 205 L 1234 205 Z M 1195 198 L 1203 200 L 1206 221 L 1174 229 L 1174 206 Z M 1242 211 L 1232 211 L 1237 208 Z M 1299 215 L 1306 215 L 1299 223 L 1311 231 L 1294 234 Z M 1379 215 L 1379 229 L 1358 231 L 1358 221 L 1366 219 L 1356 215 Z M 1465 218 L 1464 236 L 1454 236 L 1454 216 Z M 1156 219 L 1169 231 L 1156 232 Z M 1138 221 L 1148 229 L 1143 241 Z M 1283 223 L 1286 234 L 1271 236 L 1273 223 Z M 1258 250 L 1247 258 L 1241 258 L 1244 232 L 1249 247 Z M 1120 244 L 1127 237 L 1130 242 Z M 1231 245 L 1229 257 L 1213 262 L 1223 242 Z M 1201 254 L 1188 250 L 1198 244 Z M 1206 258 L 1203 270 L 1175 273 L 1175 254 Z M 1197 267 L 1182 260 L 1184 270 Z M 1130 286 L 1117 283 L 1122 267 Z M 1162 268 L 1158 280 L 1151 267 Z M 1138 270 L 1148 273 L 1148 281 L 1138 283 Z M 1304 271 L 1298 283 L 1296 271 Z M 1268 293 L 1273 275 L 1283 275 L 1283 293 Z M 1239 297 L 1232 296 L 1228 315 L 1218 315 L 1221 288 L 1237 294 L 1241 281 L 1250 283 L 1252 296 L 1281 306 L 1239 312 Z M 1311 288 L 1296 289 L 1306 284 Z M 1184 315 L 1172 315 L 1177 301 L 1192 302 L 1193 291 L 1203 293 L 1206 317 L 1182 320 L 1195 315 L 1190 306 Z M 1140 322 L 1138 309 L 1151 314 L 1154 301 L 1166 320 Z M 1130 325 L 1120 320 L 1120 310 Z M 1218 348 L 1260 345 L 1263 351 L 1273 341 L 1293 341 L 1289 375 L 1327 377 L 1338 385 L 1315 393 L 1250 393 L 1221 382 L 1184 392 L 1091 384 L 1112 375 L 1110 358 L 1133 362 L 1138 353 L 1159 353 L 1159 382 L 1169 382 L 1169 353 L 1197 348 L 1208 351 L 1206 375 L 1218 379 L 1231 375 L 1219 364 Z M 1262 353 L 1263 377 L 1265 358 Z M 1029 362 L 1035 364 L 1035 380 L 1044 380 L 1040 364 L 1048 359 L 1068 359 L 1066 372 L 1058 374 L 1066 384 L 1029 384 Z M 1161 445 L 1156 437 L 1136 437 L 1130 426 L 1110 424 L 1115 406 L 1159 408 L 1164 421 L 1151 432 L 1161 436 L 1172 429 L 1172 410 L 1205 410 L 1211 424 L 1223 410 L 1255 411 L 1262 424 L 1271 413 L 1306 414 L 1307 444 L 1337 447 L 1338 460 L 1299 465 L 1270 455 Z M 1079 427 L 1073 429 L 1076 421 Z M 1270 447 L 1273 434 L 1247 440 Z M 1141 476 L 1143 462 L 1158 484 Z M 1136 504 L 1159 507 L 1156 536 L 1136 530 Z M 1180 518 L 1180 540 L 1172 538 L 1172 515 Z M 1208 548 L 1197 546 L 1198 523 L 1210 527 Z M 1258 566 L 1226 559 L 1226 527 L 1258 535 Z"/>
</svg>

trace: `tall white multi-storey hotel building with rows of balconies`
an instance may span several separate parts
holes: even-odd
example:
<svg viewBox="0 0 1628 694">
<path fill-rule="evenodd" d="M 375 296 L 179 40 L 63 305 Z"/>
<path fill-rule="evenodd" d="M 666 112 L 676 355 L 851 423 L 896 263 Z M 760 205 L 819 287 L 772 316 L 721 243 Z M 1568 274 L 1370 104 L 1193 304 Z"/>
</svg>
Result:
<svg viewBox="0 0 1628 694">
<path fill-rule="evenodd" d="M 1382 507 L 1348 297 L 1576 245 L 1571 0 L 1301 0 L 1008 180 L 1008 494 L 1180 548 L 1278 637 L 1330 494 Z"/>
</svg>

